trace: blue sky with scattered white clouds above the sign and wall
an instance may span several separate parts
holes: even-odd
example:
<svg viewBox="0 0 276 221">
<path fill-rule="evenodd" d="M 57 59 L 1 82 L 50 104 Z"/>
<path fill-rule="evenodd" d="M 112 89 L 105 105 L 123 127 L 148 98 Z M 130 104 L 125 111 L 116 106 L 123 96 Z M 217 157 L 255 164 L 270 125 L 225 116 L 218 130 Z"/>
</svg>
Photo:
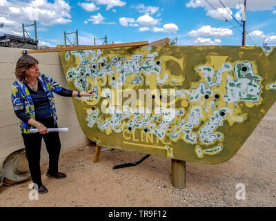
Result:
<svg viewBox="0 0 276 221">
<path fill-rule="evenodd" d="M 22 35 L 21 23 L 36 19 L 38 39 L 46 46 L 63 44 L 63 32 L 76 29 L 79 44 L 86 45 L 104 35 L 108 44 L 177 37 L 177 45 L 240 45 L 244 0 L 220 1 L 0 0 L 0 35 Z M 265 39 L 275 46 L 276 0 L 247 0 L 246 12 L 246 44 L 260 46 Z"/>
</svg>

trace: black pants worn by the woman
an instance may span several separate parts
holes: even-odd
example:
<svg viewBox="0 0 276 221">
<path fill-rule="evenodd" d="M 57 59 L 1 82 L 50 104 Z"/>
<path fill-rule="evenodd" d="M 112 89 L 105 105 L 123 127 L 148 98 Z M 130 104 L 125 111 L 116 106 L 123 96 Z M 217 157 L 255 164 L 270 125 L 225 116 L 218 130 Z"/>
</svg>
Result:
<svg viewBox="0 0 276 221">
<path fill-rule="evenodd" d="M 57 128 L 52 117 L 46 119 L 37 119 L 47 128 Z M 59 140 L 59 132 L 49 132 L 46 134 L 41 133 L 22 133 L 23 142 L 26 148 L 27 160 L 29 163 L 30 175 L 32 182 L 37 186 L 42 185 L 41 171 L 40 171 L 40 152 L 41 140 L 46 144 L 46 149 L 49 154 L 49 168 L 48 173 L 55 174 L 58 172 L 59 167 L 59 153 L 61 150 L 61 143 Z"/>
</svg>

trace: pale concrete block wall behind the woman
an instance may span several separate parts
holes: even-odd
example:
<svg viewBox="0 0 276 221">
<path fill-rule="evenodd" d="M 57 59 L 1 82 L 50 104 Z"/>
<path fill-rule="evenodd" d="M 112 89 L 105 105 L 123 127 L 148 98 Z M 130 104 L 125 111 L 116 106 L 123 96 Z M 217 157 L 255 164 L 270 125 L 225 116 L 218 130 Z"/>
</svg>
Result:
<svg viewBox="0 0 276 221">
<path fill-rule="evenodd" d="M 14 151 L 24 148 L 19 120 L 12 110 L 10 99 L 11 86 L 15 80 L 14 69 L 17 59 L 22 55 L 21 48 L 0 47 L 0 160 Z M 46 73 L 61 86 L 67 88 L 66 79 L 61 68 L 58 52 L 32 54 L 39 61 L 39 71 Z M 68 127 L 68 132 L 59 133 L 61 154 L 86 146 L 90 140 L 83 134 L 77 120 L 71 97 L 55 96 L 59 127 Z M 46 161 L 48 154 L 42 144 L 41 160 Z"/>
</svg>

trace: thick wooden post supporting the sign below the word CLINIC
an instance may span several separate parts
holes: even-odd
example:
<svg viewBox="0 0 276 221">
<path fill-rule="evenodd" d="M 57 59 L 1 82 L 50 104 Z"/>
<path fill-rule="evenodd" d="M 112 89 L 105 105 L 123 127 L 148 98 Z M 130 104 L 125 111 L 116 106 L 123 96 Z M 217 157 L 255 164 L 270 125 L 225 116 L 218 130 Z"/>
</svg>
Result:
<svg viewBox="0 0 276 221">
<path fill-rule="evenodd" d="M 186 187 L 186 162 L 172 159 L 172 186 L 177 189 Z"/>
</svg>

